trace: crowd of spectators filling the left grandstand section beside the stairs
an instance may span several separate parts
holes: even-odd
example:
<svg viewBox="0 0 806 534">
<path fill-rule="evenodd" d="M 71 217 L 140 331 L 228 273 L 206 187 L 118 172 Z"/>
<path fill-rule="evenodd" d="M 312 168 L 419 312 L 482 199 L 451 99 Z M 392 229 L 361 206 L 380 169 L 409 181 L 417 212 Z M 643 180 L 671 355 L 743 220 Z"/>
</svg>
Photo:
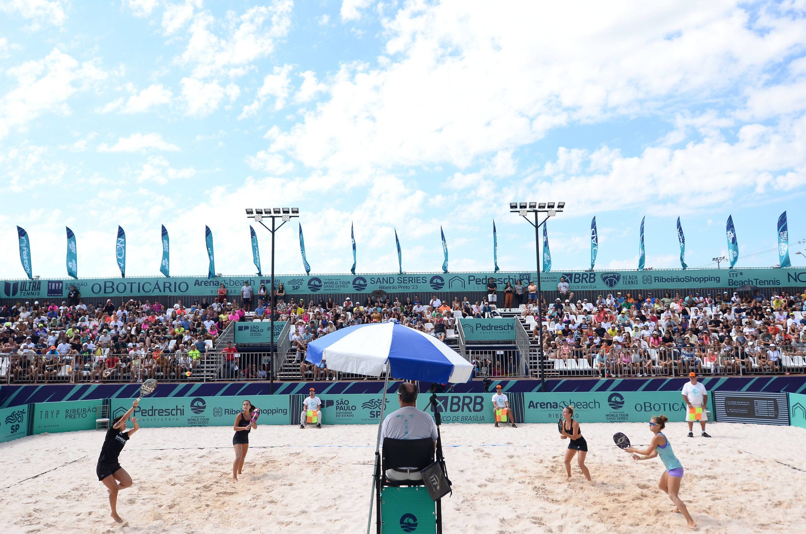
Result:
<svg viewBox="0 0 806 534">
<path fill-rule="evenodd" d="M 231 321 L 232 302 L 159 299 L 116 306 L 85 303 L 73 288 L 67 301 L 17 302 L 0 307 L 4 379 L 15 382 L 187 379 Z"/>
</svg>

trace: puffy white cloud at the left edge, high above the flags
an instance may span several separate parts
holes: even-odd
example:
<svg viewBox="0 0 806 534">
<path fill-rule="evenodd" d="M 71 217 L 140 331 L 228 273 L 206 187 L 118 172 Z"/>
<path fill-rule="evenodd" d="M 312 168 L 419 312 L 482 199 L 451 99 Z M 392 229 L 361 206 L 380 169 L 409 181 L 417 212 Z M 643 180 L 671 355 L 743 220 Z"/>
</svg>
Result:
<svg viewBox="0 0 806 534">
<path fill-rule="evenodd" d="M 68 115 L 68 98 L 106 78 L 106 73 L 92 63 L 79 65 L 58 48 L 44 59 L 27 61 L 6 74 L 15 79 L 16 86 L 0 97 L 0 139 L 12 127 L 23 127 L 45 112 Z"/>
</svg>

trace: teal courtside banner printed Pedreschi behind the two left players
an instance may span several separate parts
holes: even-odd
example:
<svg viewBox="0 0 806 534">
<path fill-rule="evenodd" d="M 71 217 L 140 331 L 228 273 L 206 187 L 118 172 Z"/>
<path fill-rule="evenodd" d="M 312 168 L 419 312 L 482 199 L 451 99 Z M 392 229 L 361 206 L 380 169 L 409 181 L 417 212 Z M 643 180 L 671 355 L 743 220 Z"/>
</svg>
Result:
<svg viewBox="0 0 806 534">
<path fill-rule="evenodd" d="M 243 397 L 154 397 L 143 398 L 134 416 L 143 428 L 226 427 L 235 423 L 249 400 L 260 408 L 258 424 L 289 424 L 288 395 L 251 395 Z M 131 408 L 131 398 L 111 399 L 112 419 Z M 298 415 L 297 415 L 298 417 Z"/>
</svg>

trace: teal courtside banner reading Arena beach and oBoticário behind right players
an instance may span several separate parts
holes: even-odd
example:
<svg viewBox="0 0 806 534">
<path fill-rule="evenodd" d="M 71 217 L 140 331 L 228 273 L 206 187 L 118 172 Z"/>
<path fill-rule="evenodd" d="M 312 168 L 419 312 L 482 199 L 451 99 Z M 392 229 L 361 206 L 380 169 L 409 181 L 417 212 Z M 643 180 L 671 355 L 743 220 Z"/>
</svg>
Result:
<svg viewBox="0 0 806 534">
<path fill-rule="evenodd" d="M 672 422 L 686 419 L 686 403 L 679 391 L 525 393 L 523 396 L 526 423 L 556 423 L 568 405 L 574 406 L 574 419 L 588 423 L 642 423 L 661 414 Z M 713 401 L 708 399 L 708 404 L 713 406 Z"/>
</svg>

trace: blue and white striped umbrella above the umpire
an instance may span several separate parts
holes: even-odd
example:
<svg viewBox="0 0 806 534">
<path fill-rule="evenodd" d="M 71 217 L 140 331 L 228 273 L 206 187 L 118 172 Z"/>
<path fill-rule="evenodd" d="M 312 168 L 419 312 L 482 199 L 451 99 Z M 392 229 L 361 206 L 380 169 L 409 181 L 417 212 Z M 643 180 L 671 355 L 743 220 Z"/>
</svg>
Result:
<svg viewBox="0 0 806 534">
<path fill-rule="evenodd" d="M 313 364 L 324 358 L 340 373 L 380 377 L 388 360 L 390 373 L 402 380 L 467 382 L 473 365 L 447 344 L 397 323 L 356 324 L 308 344 Z"/>
</svg>

